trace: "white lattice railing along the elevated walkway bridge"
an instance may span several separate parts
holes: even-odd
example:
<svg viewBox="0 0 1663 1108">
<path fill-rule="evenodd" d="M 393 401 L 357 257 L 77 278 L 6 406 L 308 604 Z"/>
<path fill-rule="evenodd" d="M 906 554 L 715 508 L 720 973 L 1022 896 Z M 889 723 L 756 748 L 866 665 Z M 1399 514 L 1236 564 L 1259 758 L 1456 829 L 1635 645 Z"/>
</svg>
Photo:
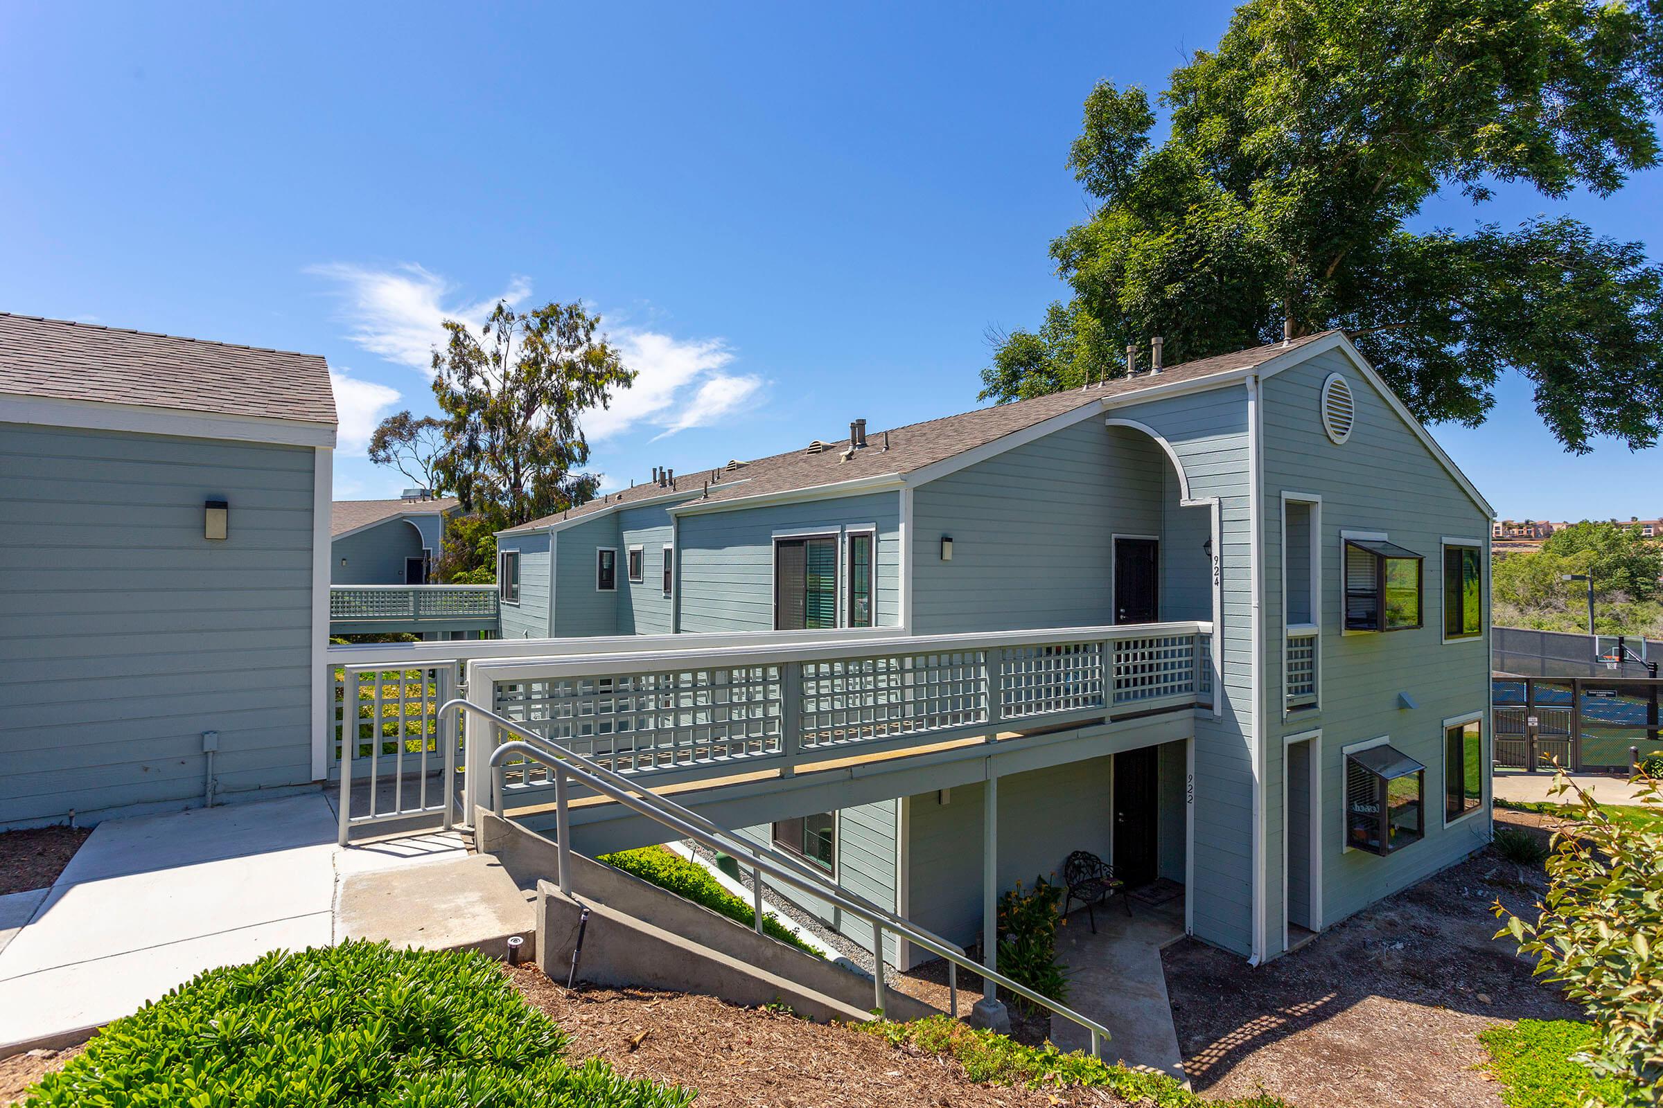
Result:
<svg viewBox="0 0 1663 1108">
<path fill-rule="evenodd" d="M 479 658 L 467 688 L 472 703 L 614 772 L 790 772 L 853 749 L 1211 703 L 1209 636 L 1204 623 L 820 643 L 757 635 L 732 650 L 654 636 L 639 640 L 652 650 Z M 509 789 L 547 782 L 537 762 L 507 766 Z"/>
</svg>

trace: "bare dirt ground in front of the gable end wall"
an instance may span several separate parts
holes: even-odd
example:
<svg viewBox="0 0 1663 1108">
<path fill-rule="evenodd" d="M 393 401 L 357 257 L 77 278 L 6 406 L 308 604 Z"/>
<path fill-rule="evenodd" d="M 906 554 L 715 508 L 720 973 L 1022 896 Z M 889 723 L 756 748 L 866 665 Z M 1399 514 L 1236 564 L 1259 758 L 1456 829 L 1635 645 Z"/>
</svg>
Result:
<svg viewBox="0 0 1663 1108">
<path fill-rule="evenodd" d="M 1192 940 L 1169 947 L 1184 1070 L 1207 1096 L 1262 1088 L 1300 1108 L 1500 1108 L 1473 1068 L 1477 1033 L 1580 1017 L 1492 940 L 1497 897 L 1525 912 L 1545 890 L 1540 867 L 1485 851 L 1261 968 Z"/>
</svg>

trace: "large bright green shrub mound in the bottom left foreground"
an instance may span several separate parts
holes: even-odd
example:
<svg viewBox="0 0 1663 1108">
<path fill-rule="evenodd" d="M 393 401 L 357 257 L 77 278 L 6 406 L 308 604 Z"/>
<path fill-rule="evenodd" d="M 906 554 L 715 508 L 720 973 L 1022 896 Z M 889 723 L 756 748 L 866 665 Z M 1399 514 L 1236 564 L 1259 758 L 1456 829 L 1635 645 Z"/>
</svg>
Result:
<svg viewBox="0 0 1663 1108">
<path fill-rule="evenodd" d="M 210 970 L 116 1020 L 30 1108 L 594 1105 L 677 1108 L 567 1038 L 491 958 L 349 942 Z"/>
</svg>

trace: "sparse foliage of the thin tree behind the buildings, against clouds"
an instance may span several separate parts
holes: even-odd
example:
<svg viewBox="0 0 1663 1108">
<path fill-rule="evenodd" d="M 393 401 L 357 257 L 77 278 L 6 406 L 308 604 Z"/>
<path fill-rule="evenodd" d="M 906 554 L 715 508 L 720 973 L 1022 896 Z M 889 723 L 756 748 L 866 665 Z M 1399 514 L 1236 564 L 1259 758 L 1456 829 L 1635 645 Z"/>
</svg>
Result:
<svg viewBox="0 0 1663 1108">
<path fill-rule="evenodd" d="M 481 336 L 444 322 L 451 339 L 434 351 L 432 392 L 449 449 L 437 470 L 464 512 L 502 528 L 595 495 L 597 478 L 580 472 L 589 440 L 579 417 L 635 380 L 599 327 L 575 302 L 530 312 L 499 302 Z"/>
</svg>

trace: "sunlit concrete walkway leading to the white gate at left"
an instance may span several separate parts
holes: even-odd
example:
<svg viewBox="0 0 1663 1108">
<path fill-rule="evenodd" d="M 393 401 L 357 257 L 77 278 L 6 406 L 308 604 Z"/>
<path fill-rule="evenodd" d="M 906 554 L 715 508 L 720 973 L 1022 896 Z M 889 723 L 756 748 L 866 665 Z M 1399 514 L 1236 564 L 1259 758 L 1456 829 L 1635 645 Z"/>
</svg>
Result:
<svg viewBox="0 0 1663 1108">
<path fill-rule="evenodd" d="M 472 945 L 487 939 L 479 927 L 529 929 L 524 894 L 454 832 L 344 851 L 334 837 L 323 792 L 98 824 L 52 889 L 0 897 L 0 1057 L 271 950 Z"/>
</svg>

